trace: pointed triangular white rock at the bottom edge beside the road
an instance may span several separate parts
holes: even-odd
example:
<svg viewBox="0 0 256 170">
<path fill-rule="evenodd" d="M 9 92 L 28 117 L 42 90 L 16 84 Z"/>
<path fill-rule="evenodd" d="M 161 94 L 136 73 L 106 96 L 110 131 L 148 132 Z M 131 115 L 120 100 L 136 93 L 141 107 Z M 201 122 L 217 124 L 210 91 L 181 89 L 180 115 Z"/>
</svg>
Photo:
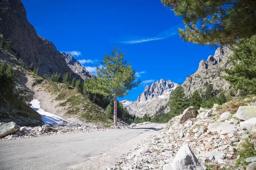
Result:
<svg viewBox="0 0 256 170">
<path fill-rule="evenodd" d="M 204 170 L 204 168 L 199 163 L 189 145 L 184 144 L 177 152 L 172 166 L 168 166 L 168 170 Z"/>
</svg>

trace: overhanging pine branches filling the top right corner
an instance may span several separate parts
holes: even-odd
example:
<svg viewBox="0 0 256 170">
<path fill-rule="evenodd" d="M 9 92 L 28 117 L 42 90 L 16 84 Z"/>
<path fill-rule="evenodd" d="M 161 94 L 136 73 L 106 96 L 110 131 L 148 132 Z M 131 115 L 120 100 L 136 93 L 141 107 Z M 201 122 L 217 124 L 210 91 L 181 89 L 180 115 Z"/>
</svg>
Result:
<svg viewBox="0 0 256 170">
<path fill-rule="evenodd" d="M 183 40 L 202 45 L 231 44 L 256 34 L 255 0 L 161 0 L 183 17 Z"/>
</svg>

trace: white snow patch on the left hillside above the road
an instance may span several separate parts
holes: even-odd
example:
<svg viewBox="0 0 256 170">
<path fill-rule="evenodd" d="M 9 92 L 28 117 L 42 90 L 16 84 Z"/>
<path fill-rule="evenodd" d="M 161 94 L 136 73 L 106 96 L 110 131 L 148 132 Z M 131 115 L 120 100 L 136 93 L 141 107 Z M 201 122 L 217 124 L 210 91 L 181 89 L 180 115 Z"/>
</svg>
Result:
<svg viewBox="0 0 256 170">
<path fill-rule="evenodd" d="M 63 121 L 68 122 L 67 120 L 64 120 L 63 118 L 61 118 L 60 116 L 57 116 L 55 114 L 46 112 L 43 109 L 41 109 L 40 108 L 40 102 L 37 99 L 33 99 L 29 103 L 31 104 L 31 108 L 41 115 L 41 119 L 43 120 L 43 122 L 45 124 L 59 125 L 60 122 L 63 122 Z"/>
</svg>

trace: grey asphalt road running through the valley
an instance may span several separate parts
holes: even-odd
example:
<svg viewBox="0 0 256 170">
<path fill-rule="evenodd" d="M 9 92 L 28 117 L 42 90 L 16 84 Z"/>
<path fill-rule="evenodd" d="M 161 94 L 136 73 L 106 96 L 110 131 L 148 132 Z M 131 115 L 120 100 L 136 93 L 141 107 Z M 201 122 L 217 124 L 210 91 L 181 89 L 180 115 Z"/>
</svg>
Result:
<svg viewBox="0 0 256 170">
<path fill-rule="evenodd" d="M 60 134 L 0 141 L 0 170 L 65 170 L 105 153 L 159 124 L 137 128 Z"/>
</svg>

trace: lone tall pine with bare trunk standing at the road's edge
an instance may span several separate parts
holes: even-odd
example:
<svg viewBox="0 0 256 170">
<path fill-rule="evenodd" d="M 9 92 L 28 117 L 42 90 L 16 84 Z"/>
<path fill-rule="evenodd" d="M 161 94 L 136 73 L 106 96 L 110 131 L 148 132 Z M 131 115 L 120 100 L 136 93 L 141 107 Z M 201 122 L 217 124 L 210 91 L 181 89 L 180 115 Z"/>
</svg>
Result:
<svg viewBox="0 0 256 170">
<path fill-rule="evenodd" d="M 114 99 L 114 127 L 117 125 L 117 96 L 122 97 L 128 94 L 132 88 L 140 84 L 136 80 L 135 71 L 130 63 L 126 64 L 124 53 L 119 48 L 114 48 L 111 56 L 105 54 L 101 61 L 103 67 L 96 67 L 97 79 L 91 79 L 86 83 L 86 89 L 91 93 L 98 93 L 104 96 L 113 95 Z"/>
</svg>

